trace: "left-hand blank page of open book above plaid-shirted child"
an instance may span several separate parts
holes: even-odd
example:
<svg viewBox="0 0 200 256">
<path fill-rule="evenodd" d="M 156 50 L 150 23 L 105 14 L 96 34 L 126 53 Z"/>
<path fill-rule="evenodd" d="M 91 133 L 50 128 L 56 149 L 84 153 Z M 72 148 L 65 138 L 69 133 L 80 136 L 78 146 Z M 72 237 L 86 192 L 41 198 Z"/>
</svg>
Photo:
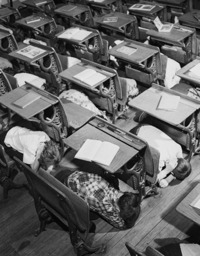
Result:
<svg viewBox="0 0 200 256">
<path fill-rule="evenodd" d="M 102 141 L 100 140 L 90 140 L 87 139 L 80 150 L 76 153 L 74 158 L 86 160 L 86 161 L 92 161 L 92 158 L 95 156 L 96 152 L 102 145 Z"/>
</svg>

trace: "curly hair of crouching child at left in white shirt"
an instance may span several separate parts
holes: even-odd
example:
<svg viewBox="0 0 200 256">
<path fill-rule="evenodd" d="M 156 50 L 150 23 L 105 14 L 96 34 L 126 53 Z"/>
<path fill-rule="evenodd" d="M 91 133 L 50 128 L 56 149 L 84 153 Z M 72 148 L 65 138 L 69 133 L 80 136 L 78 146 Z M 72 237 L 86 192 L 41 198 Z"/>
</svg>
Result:
<svg viewBox="0 0 200 256">
<path fill-rule="evenodd" d="M 61 160 L 60 145 L 53 140 L 45 141 L 44 148 L 38 159 L 40 166 L 47 170 L 49 166 L 58 166 Z"/>
</svg>

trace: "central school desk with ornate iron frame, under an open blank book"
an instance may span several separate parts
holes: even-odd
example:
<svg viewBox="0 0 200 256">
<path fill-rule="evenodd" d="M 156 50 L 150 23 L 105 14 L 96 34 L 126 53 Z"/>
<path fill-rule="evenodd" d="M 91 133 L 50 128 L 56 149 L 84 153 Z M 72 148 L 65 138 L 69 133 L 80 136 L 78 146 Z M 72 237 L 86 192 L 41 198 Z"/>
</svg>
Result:
<svg viewBox="0 0 200 256">
<path fill-rule="evenodd" d="M 73 77 L 88 68 L 103 74 L 105 79 L 89 86 Z M 122 88 L 116 70 L 81 59 L 81 62 L 67 68 L 59 75 L 64 82 L 68 83 L 70 81 L 70 86 L 72 84 L 81 86 L 94 104 L 113 115 L 113 123 L 118 116 L 126 114 L 127 88 L 126 86 Z"/>
</svg>

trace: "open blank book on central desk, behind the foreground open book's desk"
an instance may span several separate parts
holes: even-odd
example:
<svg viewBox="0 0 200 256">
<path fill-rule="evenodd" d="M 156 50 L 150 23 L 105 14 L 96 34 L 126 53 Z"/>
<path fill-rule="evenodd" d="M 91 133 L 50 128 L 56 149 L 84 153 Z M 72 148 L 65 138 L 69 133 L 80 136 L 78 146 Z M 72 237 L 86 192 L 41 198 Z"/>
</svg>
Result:
<svg viewBox="0 0 200 256">
<path fill-rule="evenodd" d="M 104 79 L 107 78 L 106 76 L 99 72 L 96 72 L 96 70 L 92 68 L 86 68 L 84 71 L 76 74 L 73 77 L 90 86 L 94 86 L 95 84 L 98 84 L 99 82 L 102 82 Z"/>
</svg>

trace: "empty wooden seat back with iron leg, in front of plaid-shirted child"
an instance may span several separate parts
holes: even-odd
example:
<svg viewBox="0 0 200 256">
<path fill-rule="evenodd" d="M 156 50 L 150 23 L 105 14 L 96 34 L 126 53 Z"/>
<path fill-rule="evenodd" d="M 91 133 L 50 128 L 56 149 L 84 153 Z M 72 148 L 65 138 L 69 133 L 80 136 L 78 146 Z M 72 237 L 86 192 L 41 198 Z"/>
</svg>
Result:
<svg viewBox="0 0 200 256">
<path fill-rule="evenodd" d="M 43 169 L 36 173 L 18 158 L 14 157 L 14 160 L 31 187 L 41 224 L 49 220 L 49 213 L 66 224 L 78 256 L 102 249 L 102 246 L 92 248 L 85 242 L 90 227 L 88 203 Z"/>
</svg>

